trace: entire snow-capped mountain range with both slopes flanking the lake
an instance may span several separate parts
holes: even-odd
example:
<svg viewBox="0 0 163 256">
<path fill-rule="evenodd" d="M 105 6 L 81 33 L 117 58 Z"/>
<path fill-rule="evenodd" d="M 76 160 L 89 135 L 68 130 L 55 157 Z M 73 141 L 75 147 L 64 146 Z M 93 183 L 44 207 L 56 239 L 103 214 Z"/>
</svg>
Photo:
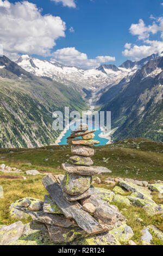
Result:
<svg viewBox="0 0 163 256">
<path fill-rule="evenodd" d="M 52 144 L 52 112 L 82 111 L 87 100 L 111 111 L 113 141 L 124 138 L 162 138 L 163 54 L 139 62 L 96 69 L 40 60 L 28 55 L 17 62 L 0 57 L 0 147 Z"/>
</svg>

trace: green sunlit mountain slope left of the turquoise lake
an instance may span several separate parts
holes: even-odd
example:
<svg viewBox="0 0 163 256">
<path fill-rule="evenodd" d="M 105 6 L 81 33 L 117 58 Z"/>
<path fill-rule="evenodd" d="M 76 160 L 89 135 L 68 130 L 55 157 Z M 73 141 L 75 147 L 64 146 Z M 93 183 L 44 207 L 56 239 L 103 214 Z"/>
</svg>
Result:
<svg viewBox="0 0 163 256">
<path fill-rule="evenodd" d="M 37 77 L 0 57 L 0 148 L 52 144 L 59 132 L 52 129 L 52 113 L 86 107 L 79 90 Z"/>
</svg>

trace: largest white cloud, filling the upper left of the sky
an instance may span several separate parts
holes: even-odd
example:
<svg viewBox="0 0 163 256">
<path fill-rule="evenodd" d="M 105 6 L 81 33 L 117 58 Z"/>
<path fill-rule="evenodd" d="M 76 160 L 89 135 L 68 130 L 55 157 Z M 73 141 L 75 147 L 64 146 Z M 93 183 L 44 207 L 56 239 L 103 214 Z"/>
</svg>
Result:
<svg viewBox="0 0 163 256">
<path fill-rule="evenodd" d="M 0 0 L 0 44 L 4 54 L 17 59 L 19 52 L 49 56 L 55 41 L 65 36 L 60 17 L 41 15 L 41 9 L 28 1 Z"/>
</svg>

